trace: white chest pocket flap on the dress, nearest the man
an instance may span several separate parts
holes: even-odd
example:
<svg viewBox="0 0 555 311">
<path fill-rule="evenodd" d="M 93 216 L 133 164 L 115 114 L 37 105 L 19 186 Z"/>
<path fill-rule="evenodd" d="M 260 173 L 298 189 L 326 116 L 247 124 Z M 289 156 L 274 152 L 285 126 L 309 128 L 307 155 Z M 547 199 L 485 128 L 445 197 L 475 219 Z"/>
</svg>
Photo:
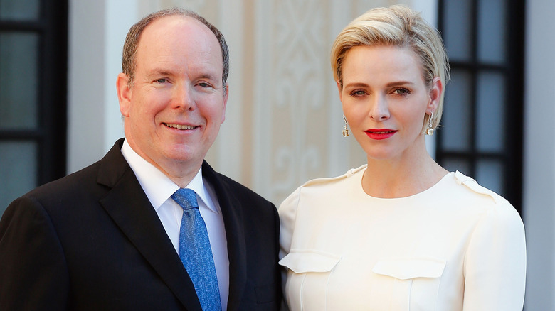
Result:
<svg viewBox="0 0 555 311">
<path fill-rule="evenodd" d="M 322 251 L 310 249 L 292 249 L 290 253 L 280 260 L 280 265 L 289 268 L 295 273 L 328 272 L 332 271 L 340 260 L 341 256 L 332 253 L 323 253 Z"/>
</svg>

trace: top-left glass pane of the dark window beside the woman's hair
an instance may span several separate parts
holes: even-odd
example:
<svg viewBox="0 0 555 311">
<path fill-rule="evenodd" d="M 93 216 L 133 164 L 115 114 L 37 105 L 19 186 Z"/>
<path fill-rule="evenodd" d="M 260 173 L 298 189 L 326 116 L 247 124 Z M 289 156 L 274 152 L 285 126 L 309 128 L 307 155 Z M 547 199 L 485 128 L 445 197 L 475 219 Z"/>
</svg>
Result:
<svg viewBox="0 0 555 311">
<path fill-rule="evenodd" d="M 443 40 L 450 60 L 470 60 L 472 55 L 472 1 L 445 0 Z"/>
</svg>

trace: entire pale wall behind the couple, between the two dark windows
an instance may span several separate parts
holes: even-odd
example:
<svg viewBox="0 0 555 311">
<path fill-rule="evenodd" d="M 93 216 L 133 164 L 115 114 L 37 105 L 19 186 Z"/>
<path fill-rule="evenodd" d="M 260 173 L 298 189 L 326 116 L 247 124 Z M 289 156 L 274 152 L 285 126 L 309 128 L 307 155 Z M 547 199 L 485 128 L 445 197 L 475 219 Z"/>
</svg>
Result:
<svg viewBox="0 0 555 311">
<path fill-rule="evenodd" d="M 230 47 L 226 121 L 207 156 L 216 170 L 277 205 L 309 179 L 364 164 L 354 138 L 342 136 L 329 49 L 354 17 L 396 3 L 436 6 L 434 0 L 70 1 L 68 172 L 93 163 L 123 136 L 115 77 L 125 33 L 147 13 L 171 6 L 200 13 Z"/>
</svg>

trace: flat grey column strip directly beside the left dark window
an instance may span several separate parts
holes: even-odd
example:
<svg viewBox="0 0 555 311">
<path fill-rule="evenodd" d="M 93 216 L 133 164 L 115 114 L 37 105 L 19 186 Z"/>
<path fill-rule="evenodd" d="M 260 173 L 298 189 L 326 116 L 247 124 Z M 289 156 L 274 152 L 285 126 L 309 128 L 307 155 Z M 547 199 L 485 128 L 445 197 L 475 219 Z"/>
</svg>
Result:
<svg viewBox="0 0 555 311">
<path fill-rule="evenodd" d="M 68 173 L 103 154 L 105 5 L 70 0 L 68 33 Z"/>
</svg>

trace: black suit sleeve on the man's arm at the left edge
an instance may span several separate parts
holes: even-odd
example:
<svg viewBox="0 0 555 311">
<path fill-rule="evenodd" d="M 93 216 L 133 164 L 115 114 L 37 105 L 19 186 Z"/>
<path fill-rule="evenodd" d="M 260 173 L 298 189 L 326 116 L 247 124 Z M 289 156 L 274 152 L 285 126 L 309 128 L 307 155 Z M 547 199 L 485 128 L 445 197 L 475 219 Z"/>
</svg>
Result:
<svg viewBox="0 0 555 311">
<path fill-rule="evenodd" d="M 0 310 L 65 310 L 68 269 L 50 217 L 33 197 L 0 221 Z"/>
</svg>

